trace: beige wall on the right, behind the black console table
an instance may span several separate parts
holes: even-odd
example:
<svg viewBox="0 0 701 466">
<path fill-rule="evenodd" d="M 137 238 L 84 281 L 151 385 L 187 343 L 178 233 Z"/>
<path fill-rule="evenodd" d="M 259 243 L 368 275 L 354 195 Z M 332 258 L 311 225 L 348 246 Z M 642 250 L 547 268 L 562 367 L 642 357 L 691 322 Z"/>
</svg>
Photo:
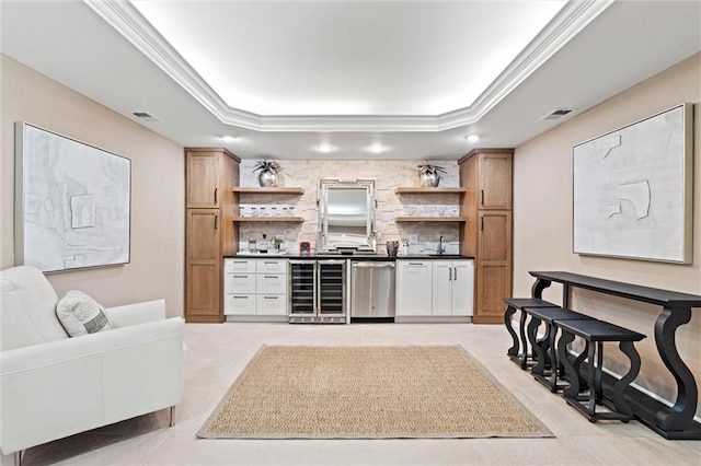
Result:
<svg viewBox="0 0 701 466">
<path fill-rule="evenodd" d="M 576 92 L 576 90 L 573 90 Z M 701 294 L 701 54 L 660 72 L 558 128 L 516 148 L 514 161 L 514 295 L 530 294 L 529 270 L 566 270 L 611 280 Z M 688 102 L 694 106 L 693 264 L 587 257 L 572 253 L 572 148 L 655 113 Z M 543 177 L 543 174 L 547 174 Z M 542 179 L 547 179 L 545 183 Z M 545 298 L 560 302 L 561 288 Z M 660 308 L 602 294 L 582 292 L 575 307 L 598 318 L 625 325 L 647 335 L 637 348 L 643 356 L 635 381 L 667 400 L 676 399 L 676 385 L 657 354 L 654 323 Z M 701 308 L 677 330 L 682 359 L 701 383 Z M 616 354 L 614 347 L 606 353 Z M 624 358 L 607 364 L 624 372 Z M 621 366 L 621 364 L 623 364 Z M 701 399 L 701 398 L 700 398 Z M 701 408 L 697 413 L 701 412 Z"/>
</svg>

